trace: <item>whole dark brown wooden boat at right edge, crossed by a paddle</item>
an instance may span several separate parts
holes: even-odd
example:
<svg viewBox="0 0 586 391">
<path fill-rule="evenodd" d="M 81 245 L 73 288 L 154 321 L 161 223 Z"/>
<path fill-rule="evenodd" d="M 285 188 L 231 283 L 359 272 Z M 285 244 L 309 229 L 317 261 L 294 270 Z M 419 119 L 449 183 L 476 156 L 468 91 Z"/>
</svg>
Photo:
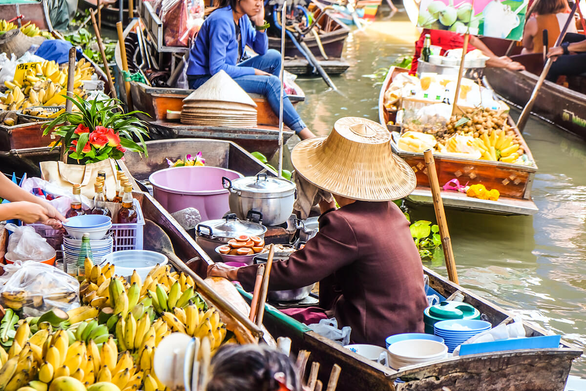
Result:
<svg viewBox="0 0 586 391">
<path fill-rule="evenodd" d="M 484 39 L 483 39 L 484 40 Z M 505 41 L 505 40 L 503 40 Z M 499 40 L 485 41 L 495 54 L 502 53 L 505 45 Z M 516 46 L 516 52 L 520 48 Z M 515 52 L 513 52 L 515 53 Z M 540 54 L 512 55 L 512 60 L 522 63 L 527 70 L 517 72 L 502 68 L 486 68 L 484 75 L 490 86 L 504 100 L 513 106 L 522 108 L 525 106 L 533 92 L 533 87 L 539 79 L 543 69 L 543 57 Z M 567 77 L 568 87 L 544 81 L 539 90 L 539 95 L 533 106 L 532 114 L 556 125 L 558 128 L 573 133 L 582 140 L 586 140 L 586 77 Z"/>
</svg>

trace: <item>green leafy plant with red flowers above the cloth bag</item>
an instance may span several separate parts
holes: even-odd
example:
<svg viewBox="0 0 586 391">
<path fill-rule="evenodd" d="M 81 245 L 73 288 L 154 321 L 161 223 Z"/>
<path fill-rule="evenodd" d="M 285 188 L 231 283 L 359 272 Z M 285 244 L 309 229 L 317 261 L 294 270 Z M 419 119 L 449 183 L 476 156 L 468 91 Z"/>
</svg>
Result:
<svg viewBox="0 0 586 391">
<path fill-rule="evenodd" d="M 148 137 L 145 123 L 133 114 L 117 109 L 116 99 L 86 101 L 79 96 L 66 97 L 79 108 L 57 116 L 43 127 L 43 135 L 52 132 L 59 136 L 52 148 L 61 142 L 70 158 L 81 164 L 94 163 L 108 158 L 120 159 L 130 151 L 147 155 L 144 137 Z M 142 113 L 144 114 L 144 113 Z M 134 140 L 138 140 L 135 142 Z M 147 155 L 148 156 L 148 155 Z"/>
</svg>

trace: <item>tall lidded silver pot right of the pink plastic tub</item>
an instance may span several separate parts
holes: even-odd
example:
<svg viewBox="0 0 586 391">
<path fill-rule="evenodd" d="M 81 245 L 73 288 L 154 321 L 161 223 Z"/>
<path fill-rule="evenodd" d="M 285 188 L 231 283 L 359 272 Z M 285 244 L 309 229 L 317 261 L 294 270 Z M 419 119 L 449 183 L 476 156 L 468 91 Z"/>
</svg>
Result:
<svg viewBox="0 0 586 391">
<path fill-rule="evenodd" d="M 230 192 L 230 212 L 236 213 L 240 219 L 246 219 L 248 212 L 253 210 L 263 215 L 264 225 L 280 225 L 293 212 L 295 183 L 287 179 L 263 173 L 232 181 L 224 177 L 222 184 Z"/>
</svg>

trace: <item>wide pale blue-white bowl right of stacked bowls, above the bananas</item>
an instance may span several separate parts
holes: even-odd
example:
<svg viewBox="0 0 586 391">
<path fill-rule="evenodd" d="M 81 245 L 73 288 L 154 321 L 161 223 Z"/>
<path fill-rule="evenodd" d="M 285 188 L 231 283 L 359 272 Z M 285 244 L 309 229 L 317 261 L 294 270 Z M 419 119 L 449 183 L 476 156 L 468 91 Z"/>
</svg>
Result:
<svg viewBox="0 0 586 391">
<path fill-rule="evenodd" d="M 156 264 L 166 265 L 169 262 L 163 254 L 148 250 L 114 251 L 106 257 L 106 261 L 114 264 L 114 273 L 118 276 L 129 277 L 136 270 L 143 281 Z"/>
</svg>

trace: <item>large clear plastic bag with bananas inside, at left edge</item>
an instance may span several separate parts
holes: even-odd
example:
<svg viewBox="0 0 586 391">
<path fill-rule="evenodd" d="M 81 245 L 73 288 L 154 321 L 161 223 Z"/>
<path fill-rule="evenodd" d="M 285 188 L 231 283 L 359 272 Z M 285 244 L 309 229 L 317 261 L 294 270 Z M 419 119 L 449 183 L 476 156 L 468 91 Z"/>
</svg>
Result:
<svg viewBox="0 0 586 391">
<path fill-rule="evenodd" d="M 44 263 L 16 261 L 4 266 L 0 277 L 0 304 L 13 310 L 24 308 L 26 316 L 39 316 L 52 308 L 69 311 L 79 307 L 79 282 L 58 268 Z"/>
</svg>

